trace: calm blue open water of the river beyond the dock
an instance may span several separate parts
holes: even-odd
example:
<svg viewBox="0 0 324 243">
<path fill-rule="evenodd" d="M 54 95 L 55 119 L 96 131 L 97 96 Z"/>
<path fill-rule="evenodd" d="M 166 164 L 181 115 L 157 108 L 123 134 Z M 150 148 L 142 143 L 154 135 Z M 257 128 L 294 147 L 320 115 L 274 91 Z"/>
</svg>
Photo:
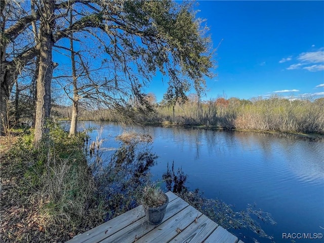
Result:
<svg viewBox="0 0 324 243">
<path fill-rule="evenodd" d="M 114 140 L 124 129 L 112 123 L 81 122 L 79 130 L 96 127 L 91 134 L 103 139 L 107 156 L 119 145 Z M 324 142 L 296 136 L 253 132 L 228 132 L 180 128 L 127 127 L 127 131 L 149 133 L 152 151 L 158 155 L 151 168 L 153 180 L 174 161 L 175 169 L 188 175 L 187 186 L 199 188 L 208 198 L 219 198 L 235 206 L 235 211 L 256 204 L 271 213 L 276 225 L 261 224 L 275 242 L 282 233 L 324 233 Z M 248 231 L 246 242 L 258 238 Z M 324 242 L 323 239 L 294 239 Z"/>
</svg>

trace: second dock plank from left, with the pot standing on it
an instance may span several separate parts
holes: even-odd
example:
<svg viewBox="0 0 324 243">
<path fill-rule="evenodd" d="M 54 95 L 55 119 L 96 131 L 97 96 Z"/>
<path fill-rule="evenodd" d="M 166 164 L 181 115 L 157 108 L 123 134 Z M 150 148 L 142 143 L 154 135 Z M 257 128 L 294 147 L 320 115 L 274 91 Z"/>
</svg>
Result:
<svg viewBox="0 0 324 243">
<path fill-rule="evenodd" d="M 182 200 L 180 197 L 174 199 L 169 203 L 166 211 L 166 215 L 162 221 L 165 222 L 170 219 L 173 215 L 177 214 L 179 211 L 188 207 L 188 203 Z M 147 222 L 147 218 L 141 218 L 140 220 L 129 225 L 127 228 L 121 229 L 115 234 L 105 238 L 102 242 L 134 242 L 135 239 L 143 236 L 147 232 L 153 230 L 154 228 L 159 227 L 159 225 L 154 226 L 150 225 Z M 97 241 L 98 242 L 98 241 Z M 101 242 L 101 241 L 100 241 Z"/>
</svg>

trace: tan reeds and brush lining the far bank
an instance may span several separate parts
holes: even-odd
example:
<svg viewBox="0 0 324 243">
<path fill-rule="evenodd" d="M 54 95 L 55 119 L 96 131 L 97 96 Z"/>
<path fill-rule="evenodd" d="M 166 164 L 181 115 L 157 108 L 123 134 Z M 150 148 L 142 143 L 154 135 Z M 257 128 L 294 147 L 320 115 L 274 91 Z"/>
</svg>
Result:
<svg viewBox="0 0 324 243">
<path fill-rule="evenodd" d="M 324 134 L 324 98 L 269 99 L 217 98 L 199 101 L 195 95 L 182 103 L 155 103 L 155 112 L 137 115 L 141 124 L 164 126 L 206 126 L 222 129 L 261 130 Z M 69 118 L 70 107 L 56 107 L 56 114 Z M 106 109 L 80 110 L 79 119 L 118 121 L 118 115 Z"/>
</svg>

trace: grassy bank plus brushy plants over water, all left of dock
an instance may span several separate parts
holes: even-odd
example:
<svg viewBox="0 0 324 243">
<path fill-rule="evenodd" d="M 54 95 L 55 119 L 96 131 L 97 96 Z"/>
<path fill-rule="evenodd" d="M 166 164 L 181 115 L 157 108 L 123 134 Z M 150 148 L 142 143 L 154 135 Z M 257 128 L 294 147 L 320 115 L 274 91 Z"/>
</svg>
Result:
<svg viewBox="0 0 324 243">
<path fill-rule="evenodd" d="M 150 181 L 156 155 L 141 147 L 149 136 L 118 137 L 104 167 L 99 153 L 88 164 L 85 133 L 48 127 L 37 149 L 32 129 L 1 138 L 1 242 L 64 242 L 137 207 Z"/>
</svg>

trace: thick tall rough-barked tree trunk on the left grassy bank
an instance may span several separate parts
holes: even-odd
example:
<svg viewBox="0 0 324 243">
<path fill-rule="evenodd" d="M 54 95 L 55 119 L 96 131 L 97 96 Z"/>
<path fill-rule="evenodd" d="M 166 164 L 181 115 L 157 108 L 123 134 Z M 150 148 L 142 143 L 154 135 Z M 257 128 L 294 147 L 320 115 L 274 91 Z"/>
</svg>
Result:
<svg viewBox="0 0 324 243">
<path fill-rule="evenodd" d="M 39 32 L 41 33 L 39 51 L 39 70 L 37 77 L 37 101 L 36 122 L 34 133 L 34 145 L 38 147 L 39 142 L 49 133 L 46 126 L 51 112 L 51 82 L 53 69 L 57 66 L 52 61 L 52 50 L 54 45 L 53 27 L 55 24 L 54 6 L 55 1 L 43 0 L 44 12 L 41 18 Z"/>
</svg>

